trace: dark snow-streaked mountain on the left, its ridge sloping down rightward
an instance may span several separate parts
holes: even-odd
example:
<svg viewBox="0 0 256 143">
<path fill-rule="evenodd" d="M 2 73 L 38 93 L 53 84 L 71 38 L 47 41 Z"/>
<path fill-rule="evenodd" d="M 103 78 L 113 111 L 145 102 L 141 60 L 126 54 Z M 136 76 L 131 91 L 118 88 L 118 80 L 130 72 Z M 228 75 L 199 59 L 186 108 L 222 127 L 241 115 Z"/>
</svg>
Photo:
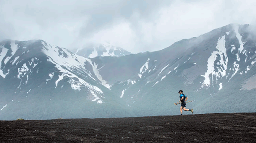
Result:
<svg viewBox="0 0 256 143">
<path fill-rule="evenodd" d="M 109 100 L 115 101 L 111 93 L 104 92 L 109 89 L 100 78 L 94 62 L 43 40 L 0 42 L 0 61 L 0 105 L 3 107 L 0 114 L 6 112 L 12 115 L 10 111 L 20 109 L 21 112 L 31 110 L 40 115 L 38 112 L 44 106 L 48 110 L 60 108 L 63 114 L 72 108 L 81 111 L 97 104 L 104 104 L 104 107 Z M 95 104 L 87 107 L 90 102 Z M 76 109 L 74 105 L 79 105 L 81 109 Z M 120 106 L 116 105 L 117 108 Z M 61 106 L 70 109 L 61 110 Z M 42 109 L 33 110 L 38 107 Z M 52 117 L 56 117 L 54 112 L 51 113 Z"/>
</svg>

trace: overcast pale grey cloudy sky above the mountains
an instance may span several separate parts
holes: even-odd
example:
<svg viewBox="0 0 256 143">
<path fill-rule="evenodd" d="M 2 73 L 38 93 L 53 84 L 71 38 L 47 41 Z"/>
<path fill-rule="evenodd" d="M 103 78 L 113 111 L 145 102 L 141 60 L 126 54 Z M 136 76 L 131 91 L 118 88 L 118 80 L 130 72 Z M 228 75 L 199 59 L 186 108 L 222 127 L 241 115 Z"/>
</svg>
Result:
<svg viewBox="0 0 256 143">
<path fill-rule="evenodd" d="M 0 0 L 0 40 L 156 51 L 230 23 L 256 23 L 255 9 L 256 0 Z"/>
</svg>

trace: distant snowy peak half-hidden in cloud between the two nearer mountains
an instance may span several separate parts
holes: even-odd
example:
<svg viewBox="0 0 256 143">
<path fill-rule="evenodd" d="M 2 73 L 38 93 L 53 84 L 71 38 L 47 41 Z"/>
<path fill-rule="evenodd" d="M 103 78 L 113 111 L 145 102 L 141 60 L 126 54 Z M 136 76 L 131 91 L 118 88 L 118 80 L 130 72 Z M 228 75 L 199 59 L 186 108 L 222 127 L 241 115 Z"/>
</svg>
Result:
<svg viewBox="0 0 256 143">
<path fill-rule="evenodd" d="M 86 58 L 94 58 L 96 56 L 125 56 L 131 54 L 127 50 L 111 45 L 109 42 L 92 44 L 84 48 L 75 48 L 71 51 Z"/>
</svg>

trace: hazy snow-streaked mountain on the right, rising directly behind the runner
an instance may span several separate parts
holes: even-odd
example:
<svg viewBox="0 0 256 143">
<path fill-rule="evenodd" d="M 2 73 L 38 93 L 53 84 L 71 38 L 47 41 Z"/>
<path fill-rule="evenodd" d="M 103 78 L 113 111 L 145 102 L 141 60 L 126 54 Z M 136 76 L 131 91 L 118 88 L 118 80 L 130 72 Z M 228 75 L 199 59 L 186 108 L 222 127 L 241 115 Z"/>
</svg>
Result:
<svg viewBox="0 0 256 143">
<path fill-rule="evenodd" d="M 196 100 L 188 105 L 197 113 L 256 109 L 245 106 L 245 95 L 256 89 L 256 31 L 250 25 L 230 24 L 155 52 L 92 60 L 116 97 L 139 116 L 179 114 L 170 104 L 180 89 Z"/>
</svg>

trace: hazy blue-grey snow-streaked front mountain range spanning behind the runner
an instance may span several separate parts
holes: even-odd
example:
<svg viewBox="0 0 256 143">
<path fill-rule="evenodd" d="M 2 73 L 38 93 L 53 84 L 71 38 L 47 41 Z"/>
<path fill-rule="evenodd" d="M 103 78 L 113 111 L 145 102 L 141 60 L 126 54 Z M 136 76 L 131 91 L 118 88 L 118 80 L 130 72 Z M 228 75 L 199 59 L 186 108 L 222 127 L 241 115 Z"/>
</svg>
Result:
<svg viewBox="0 0 256 143">
<path fill-rule="evenodd" d="M 154 52 L 90 55 L 44 40 L 0 42 L 0 120 L 179 115 L 179 90 L 195 100 L 186 104 L 194 114 L 255 112 L 253 25 Z"/>
</svg>

